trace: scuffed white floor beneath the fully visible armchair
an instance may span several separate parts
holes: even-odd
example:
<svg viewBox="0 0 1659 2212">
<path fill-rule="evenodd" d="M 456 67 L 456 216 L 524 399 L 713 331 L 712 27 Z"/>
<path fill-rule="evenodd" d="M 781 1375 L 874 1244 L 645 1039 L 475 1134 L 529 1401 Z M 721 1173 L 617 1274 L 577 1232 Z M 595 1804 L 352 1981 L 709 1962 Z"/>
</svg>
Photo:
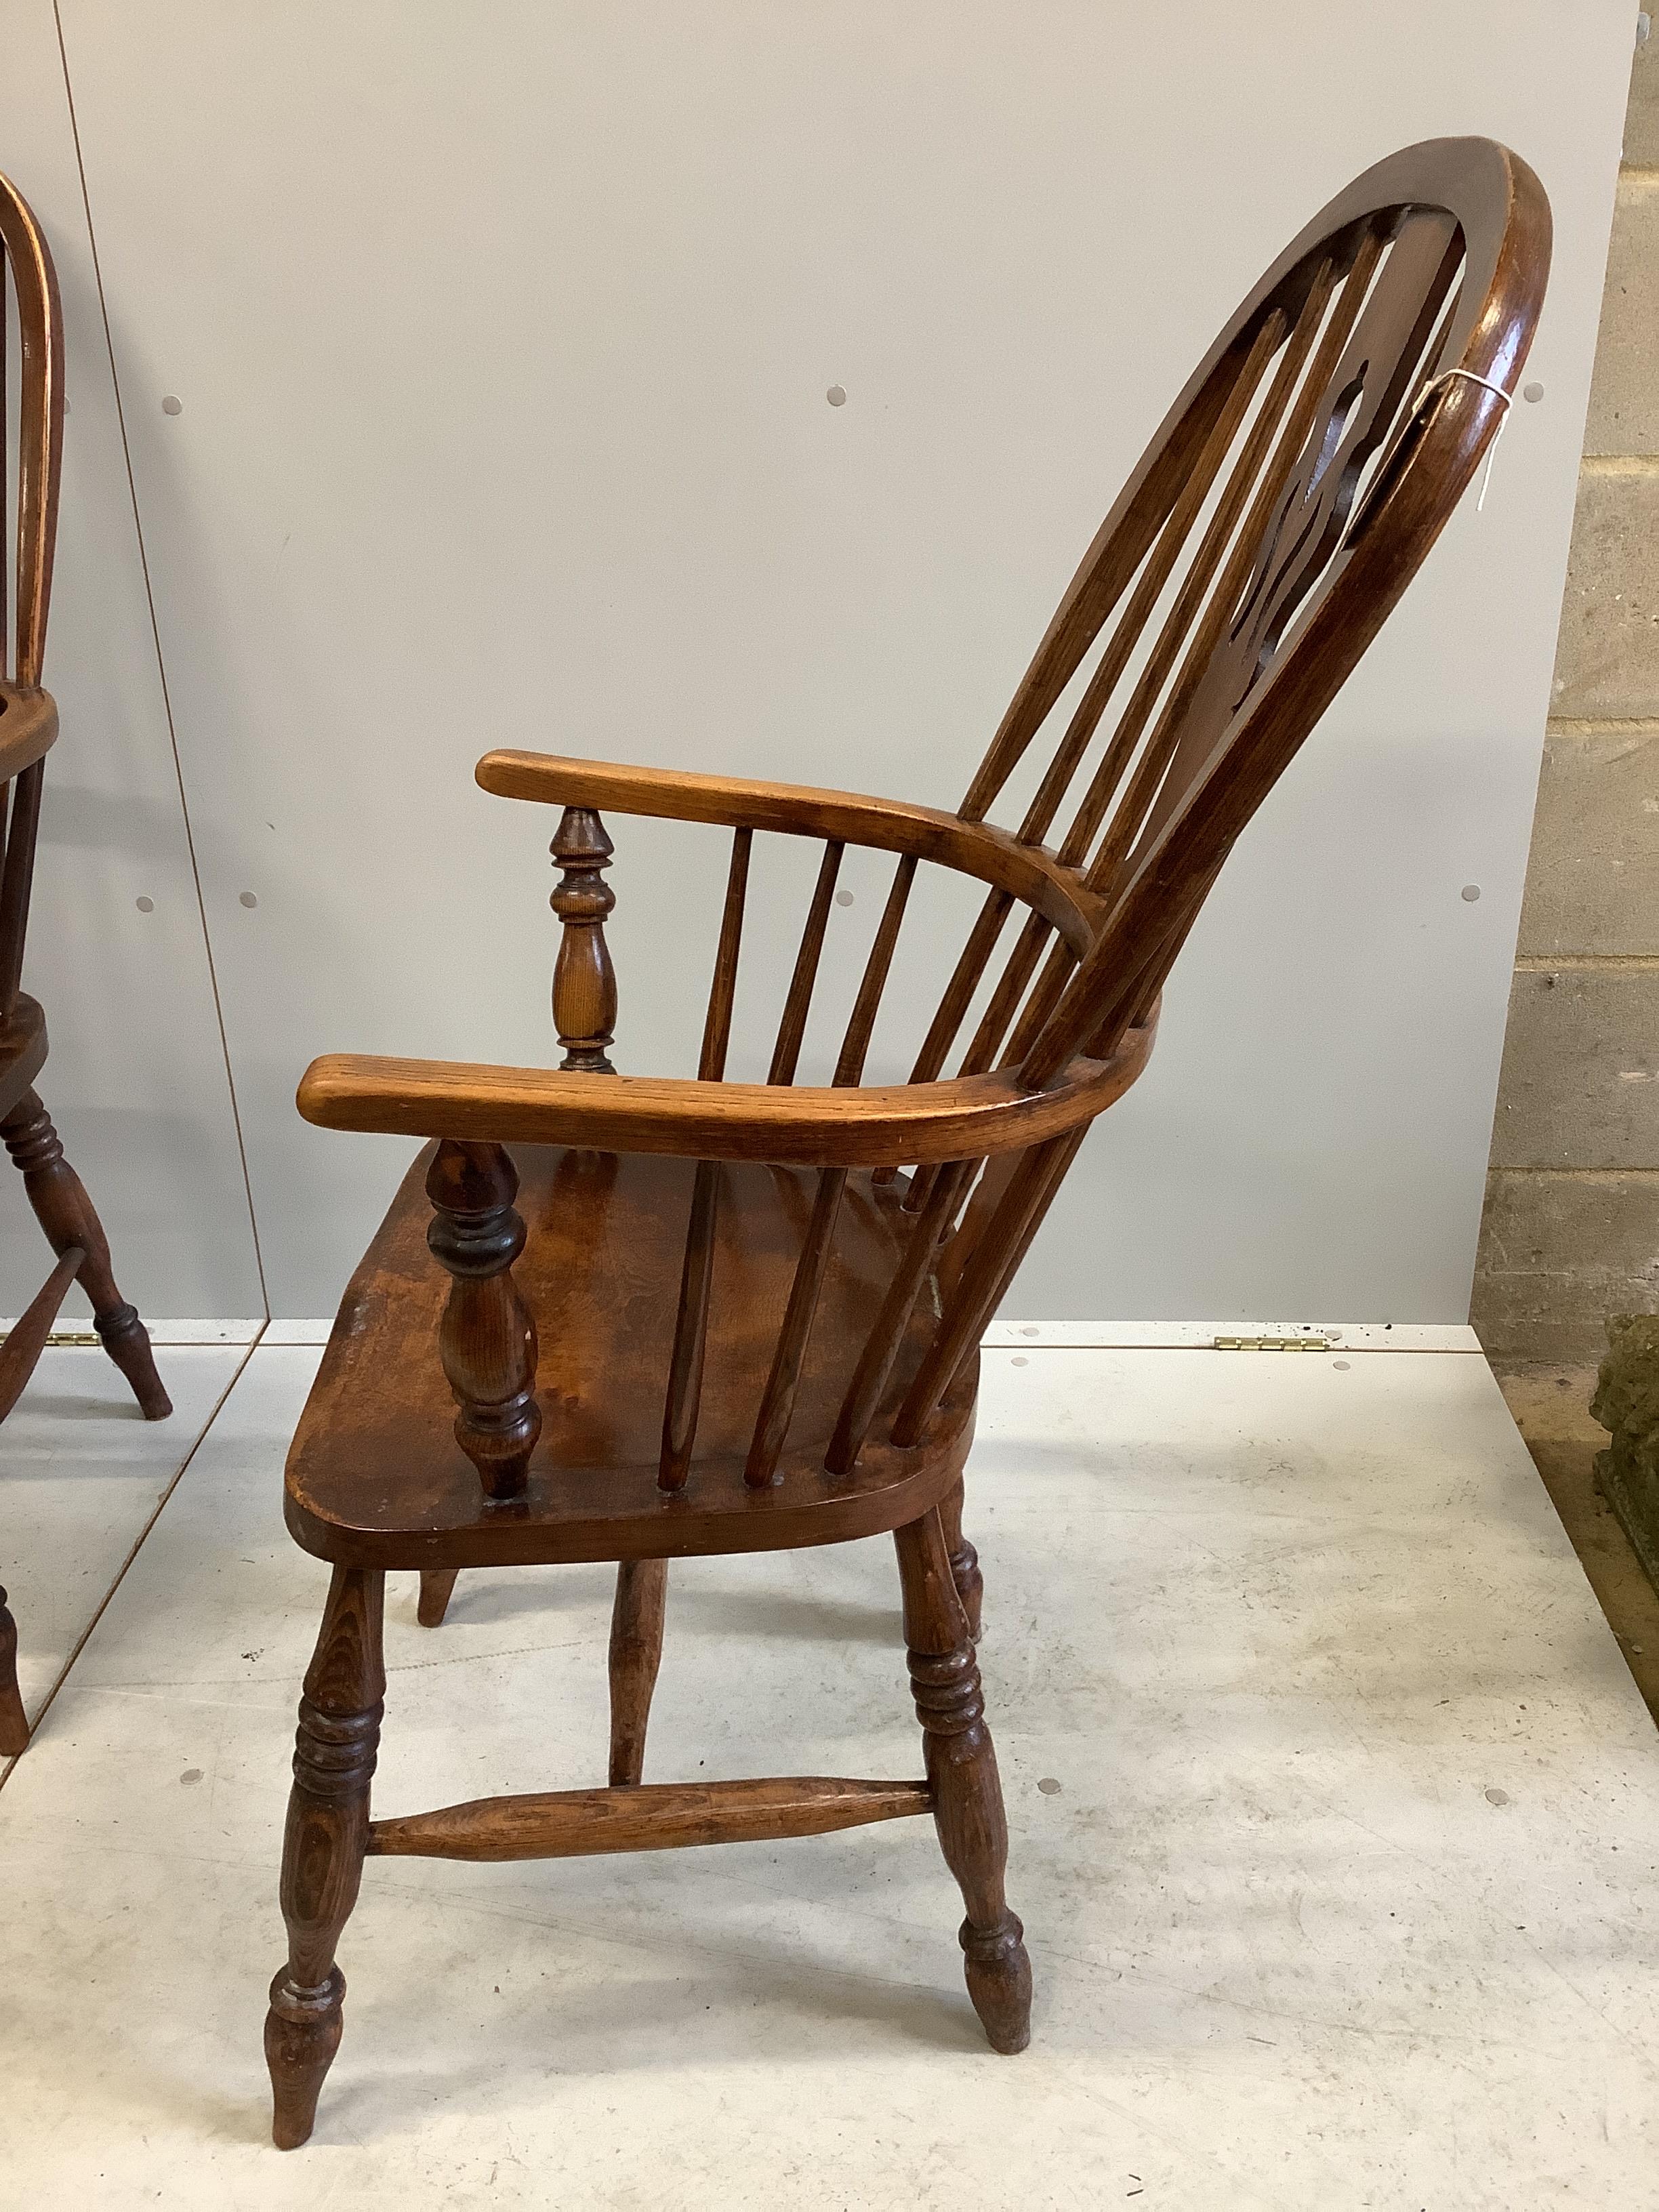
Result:
<svg viewBox="0 0 1659 2212">
<path fill-rule="evenodd" d="M 119 1551 L 131 1438 L 49 1411 L 62 1358 L 22 1621 Z M 246 1360 L 0 1790 L 0 2205 L 1659 2208 L 1659 1741 L 1484 1360 L 1358 1345 L 987 1354 L 1024 2057 L 925 1823 L 372 1863 L 319 2132 L 270 2150 L 314 1360 Z M 392 1584 L 378 1812 L 602 1778 L 608 1571 L 462 1577 L 436 1632 Z M 675 1571 L 648 1778 L 916 1767 L 885 1542 Z"/>
</svg>

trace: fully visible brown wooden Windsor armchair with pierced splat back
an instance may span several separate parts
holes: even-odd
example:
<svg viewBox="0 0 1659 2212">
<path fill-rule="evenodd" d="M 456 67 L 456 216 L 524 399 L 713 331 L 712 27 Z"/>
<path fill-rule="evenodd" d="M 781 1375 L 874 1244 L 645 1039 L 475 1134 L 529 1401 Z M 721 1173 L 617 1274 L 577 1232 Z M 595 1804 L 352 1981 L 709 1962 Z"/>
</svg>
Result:
<svg viewBox="0 0 1659 2212">
<path fill-rule="evenodd" d="M 1544 192 L 1486 139 L 1413 146 L 1334 199 L 1152 438 L 956 814 L 531 752 L 478 763 L 487 792 L 562 810 L 560 1068 L 327 1057 L 299 1088 L 314 1124 L 427 1148 L 288 1460 L 288 1526 L 334 1573 L 265 2028 L 281 2146 L 310 2135 L 341 2039 L 336 1944 L 369 1856 L 557 1858 L 931 1812 L 973 2006 L 998 2051 L 1026 2044 L 960 1526 L 975 1347 L 1088 1124 L 1146 1064 L 1237 834 L 1469 484 L 1546 265 Z M 989 821 L 998 801 L 1018 827 Z M 613 1071 L 604 810 L 732 832 L 695 1082 Z M 761 834 L 823 858 L 768 1079 L 745 1084 L 726 1062 Z M 832 1082 L 805 1086 L 849 845 L 894 856 L 891 889 Z M 922 869 L 975 878 L 982 905 L 909 1082 L 865 1084 Z M 885 1531 L 922 1776 L 641 1783 L 668 1559 Z M 420 1571 L 436 1626 L 460 1568 L 566 1559 L 617 1562 L 611 1785 L 372 1820 L 385 1571 Z"/>
</svg>

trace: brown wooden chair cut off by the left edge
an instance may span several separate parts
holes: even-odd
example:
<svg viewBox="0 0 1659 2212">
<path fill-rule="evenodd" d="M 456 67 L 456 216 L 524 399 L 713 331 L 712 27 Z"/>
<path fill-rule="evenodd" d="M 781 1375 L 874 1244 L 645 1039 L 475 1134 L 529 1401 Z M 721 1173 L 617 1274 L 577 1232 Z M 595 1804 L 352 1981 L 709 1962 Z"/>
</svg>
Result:
<svg viewBox="0 0 1659 2212">
<path fill-rule="evenodd" d="M 15 414 L 9 405 L 15 305 Z M 108 1241 L 93 1201 L 64 1159 L 58 1130 L 33 1088 L 46 1064 L 46 1018 L 22 991 L 22 945 L 35 872 L 40 785 L 58 737 L 58 708 L 40 688 L 58 538 L 58 467 L 64 445 L 64 336 L 58 276 L 40 226 L 18 188 L 0 177 L 0 515 L 9 518 L 7 462 L 15 453 L 18 531 L 11 560 L 0 538 L 0 1137 L 58 1265 L 0 1343 L 0 1420 L 35 1369 L 69 1285 L 93 1303 L 93 1327 L 133 1385 L 146 1420 L 173 1411 L 150 1356 L 150 1338 L 111 1274 Z M 0 1590 L 0 1752 L 29 1743 L 18 1694 L 18 1630 Z"/>
</svg>

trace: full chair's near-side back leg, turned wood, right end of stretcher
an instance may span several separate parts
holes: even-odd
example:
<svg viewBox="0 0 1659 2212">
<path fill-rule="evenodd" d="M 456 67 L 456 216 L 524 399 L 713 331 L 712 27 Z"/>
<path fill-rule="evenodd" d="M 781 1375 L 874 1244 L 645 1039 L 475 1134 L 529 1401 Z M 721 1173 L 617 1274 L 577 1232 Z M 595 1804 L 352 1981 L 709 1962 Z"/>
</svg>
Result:
<svg viewBox="0 0 1659 2212">
<path fill-rule="evenodd" d="M 980 1668 L 938 1506 L 894 1533 L 905 1586 L 905 1641 L 916 1719 L 922 1723 L 933 1823 L 945 1863 L 962 1889 L 962 1953 L 973 2011 L 993 2051 L 1031 2042 L 1031 1960 L 1024 1929 L 1002 1891 L 1009 1823 L 1002 1812 Z"/>
</svg>

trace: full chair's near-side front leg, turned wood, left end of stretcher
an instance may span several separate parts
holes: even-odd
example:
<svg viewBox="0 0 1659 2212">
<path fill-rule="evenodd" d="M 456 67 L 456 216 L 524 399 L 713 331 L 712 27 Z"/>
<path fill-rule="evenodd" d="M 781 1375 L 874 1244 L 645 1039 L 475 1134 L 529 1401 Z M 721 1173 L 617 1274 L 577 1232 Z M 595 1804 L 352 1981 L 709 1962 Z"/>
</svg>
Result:
<svg viewBox="0 0 1659 2212">
<path fill-rule="evenodd" d="M 279 2150 L 296 2150 L 312 2132 L 323 2075 L 341 2048 L 345 1975 L 334 1947 L 356 1905 L 369 1840 L 369 1778 L 385 1701 L 383 1599 L 383 1573 L 334 1568 L 299 1701 L 281 1885 L 288 1964 L 270 1984 L 265 2017 L 270 2132 Z"/>
</svg>

